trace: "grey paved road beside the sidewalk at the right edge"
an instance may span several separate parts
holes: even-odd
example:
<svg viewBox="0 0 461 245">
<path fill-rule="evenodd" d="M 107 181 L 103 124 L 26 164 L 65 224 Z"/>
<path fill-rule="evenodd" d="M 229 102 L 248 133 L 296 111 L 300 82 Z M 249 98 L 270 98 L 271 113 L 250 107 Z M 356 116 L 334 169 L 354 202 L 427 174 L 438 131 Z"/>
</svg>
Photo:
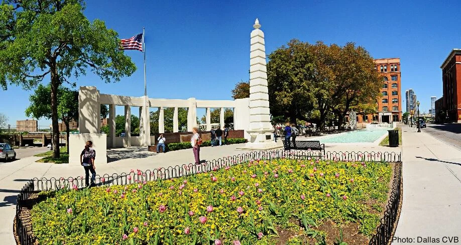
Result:
<svg viewBox="0 0 461 245">
<path fill-rule="evenodd" d="M 427 124 L 421 131 L 461 150 L 461 123 Z"/>
</svg>

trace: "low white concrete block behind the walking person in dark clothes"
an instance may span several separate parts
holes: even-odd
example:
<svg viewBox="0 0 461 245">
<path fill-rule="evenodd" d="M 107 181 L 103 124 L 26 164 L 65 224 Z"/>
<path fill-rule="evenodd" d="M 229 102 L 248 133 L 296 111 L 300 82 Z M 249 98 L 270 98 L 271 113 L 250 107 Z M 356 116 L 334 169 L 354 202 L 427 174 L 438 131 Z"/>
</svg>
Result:
<svg viewBox="0 0 461 245">
<path fill-rule="evenodd" d="M 93 149 L 96 151 L 96 166 L 107 163 L 107 135 L 86 133 L 69 135 L 69 165 L 80 165 L 80 154 L 88 140 L 93 142 Z"/>
</svg>

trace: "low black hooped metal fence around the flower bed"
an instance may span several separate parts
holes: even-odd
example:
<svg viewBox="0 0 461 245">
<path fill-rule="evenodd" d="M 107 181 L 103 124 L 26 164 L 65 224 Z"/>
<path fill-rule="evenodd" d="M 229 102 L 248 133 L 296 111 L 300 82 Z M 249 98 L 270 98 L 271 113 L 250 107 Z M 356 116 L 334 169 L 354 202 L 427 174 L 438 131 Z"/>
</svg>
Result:
<svg viewBox="0 0 461 245">
<path fill-rule="evenodd" d="M 187 176 L 191 174 L 197 174 L 202 172 L 208 172 L 212 170 L 217 170 L 220 168 L 225 168 L 227 166 L 233 166 L 249 161 L 255 160 L 272 160 L 279 158 L 288 158 L 288 159 L 300 159 L 300 160 L 330 160 L 330 161 L 382 161 L 382 162 L 401 162 L 401 155 L 395 152 L 342 152 L 342 151 L 328 151 L 326 153 L 318 151 L 285 151 L 285 150 L 272 150 L 272 151 L 252 151 L 235 156 L 227 156 L 223 158 L 218 158 L 211 161 L 206 161 L 200 165 L 195 165 L 192 163 L 183 164 L 181 166 L 176 165 L 174 167 L 167 168 L 157 168 L 155 170 L 146 170 L 141 171 L 138 169 L 132 169 L 129 173 L 121 174 L 103 174 L 102 176 L 96 175 L 95 184 L 97 186 L 101 185 L 123 185 L 123 184 L 132 184 L 135 182 L 143 181 L 153 181 L 158 179 L 170 179 L 177 178 L 182 176 Z M 397 171 L 397 168 L 396 168 Z M 400 176 L 400 167 L 399 167 L 399 176 Z M 400 186 L 400 178 L 398 178 L 398 184 Z M 34 178 L 30 180 L 21 190 L 17 198 L 16 204 L 16 230 L 19 236 L 19 241 L 22 245 L 33 244 L 35 238 L 31 237 L 27 232 L 23 222 L 20 218 L 20 211 L 23 207 L 24 201 L 30 196 L 31 193 L 37 191 L 49 191 L 49 190 L 58 190 L 60 188 L 74 188 L 80 189 L 85 187 L 85 179 L 83 176 L 78 177 L 68 177 L 68 178 Z M 393 196 L 398 195 L 398 197 L 391 198 L 392 205 L 388 205 L 388 209 L 385 212 L 385 217 L 381 220 L 381 225 L 377 229 L 377 234 L 373 236 L 370 244 L 386 244 L 381 241 L 384 239 L 390 239 L 389 229 L 392 232 L 394 221 L 396 218 L 396 213 L 394 211 L 394 202 L 397 199 L 400 199 L 400 188 L 398 192 L 394 191 L 393 187 Z M 392 196 L 392 197 L 393 197 Z M 391 203 L 391 202 L 390 202 Z M 395 214 L 394 214 L 395 213 Z M 392 221 L 391 221 L 392 220 Z M 387 238 L 386 238 L 387 237 Z M 374 240 L 379 240 L 379 242 L 374 242 Z"/>
</svg>

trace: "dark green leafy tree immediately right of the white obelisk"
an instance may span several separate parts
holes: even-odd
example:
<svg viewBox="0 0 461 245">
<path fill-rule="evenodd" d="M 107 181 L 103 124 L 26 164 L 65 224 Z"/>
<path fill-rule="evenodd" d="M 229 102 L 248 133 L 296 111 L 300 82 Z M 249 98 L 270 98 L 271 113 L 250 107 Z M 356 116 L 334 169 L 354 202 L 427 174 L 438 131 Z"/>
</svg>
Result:
<svg viewBox="0 0 461 245">
<path fill-rule="evenodd" d="M 312 57 L 308 44 L 291 40 L 272 52 L 267 64 L 270 112 L 283 116 L 291 123 L 296 119 L 307 121 L 313 110 L 313 84 L 310 81 Z"/>
</svg>

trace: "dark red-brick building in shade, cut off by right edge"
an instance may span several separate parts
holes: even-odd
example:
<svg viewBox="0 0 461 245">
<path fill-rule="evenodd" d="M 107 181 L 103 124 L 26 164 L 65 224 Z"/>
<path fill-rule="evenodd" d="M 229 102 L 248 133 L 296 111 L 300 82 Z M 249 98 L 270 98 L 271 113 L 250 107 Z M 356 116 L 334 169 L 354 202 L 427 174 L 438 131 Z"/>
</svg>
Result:
<svg viewBox="0 0 461 245">
<path fill-rule="evenodd" d="M 453 49 L 443 64 L 443 104 L 437 108 L 446 112 L 449 121 L 461 122 L 461 49 Z"/>
</svg>

